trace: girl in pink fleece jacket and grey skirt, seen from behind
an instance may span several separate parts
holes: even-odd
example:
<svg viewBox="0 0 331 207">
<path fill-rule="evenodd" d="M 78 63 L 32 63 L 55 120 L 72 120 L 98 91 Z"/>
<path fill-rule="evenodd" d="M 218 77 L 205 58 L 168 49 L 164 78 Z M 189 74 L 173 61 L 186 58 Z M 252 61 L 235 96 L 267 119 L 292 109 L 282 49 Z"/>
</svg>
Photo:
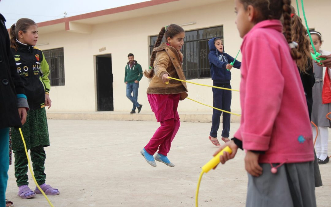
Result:
<svg viewBox="0 0 331 207">
<path fill-rule="evenodd" d="M 245 149 L 246 206 L 316 206 L 313 139 L 291 40 L 290 0 L 235 0 L 241 51 L 241 125 L 224 164 Z M 284 18 L 283 26 L 279 19 Z"/>
</svg>

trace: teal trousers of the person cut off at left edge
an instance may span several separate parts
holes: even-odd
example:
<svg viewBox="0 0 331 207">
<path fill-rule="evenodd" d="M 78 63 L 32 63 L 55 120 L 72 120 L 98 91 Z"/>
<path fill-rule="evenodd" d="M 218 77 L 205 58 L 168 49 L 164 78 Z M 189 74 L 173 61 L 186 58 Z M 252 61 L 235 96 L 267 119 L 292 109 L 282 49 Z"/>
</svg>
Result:
<svg viewBox="0 0 331 207">
<path fill-rule="evenodd" d="M 6 206 L 9 169 L 9 128 L 0 129 L 0 207 Z"/>
</svg>

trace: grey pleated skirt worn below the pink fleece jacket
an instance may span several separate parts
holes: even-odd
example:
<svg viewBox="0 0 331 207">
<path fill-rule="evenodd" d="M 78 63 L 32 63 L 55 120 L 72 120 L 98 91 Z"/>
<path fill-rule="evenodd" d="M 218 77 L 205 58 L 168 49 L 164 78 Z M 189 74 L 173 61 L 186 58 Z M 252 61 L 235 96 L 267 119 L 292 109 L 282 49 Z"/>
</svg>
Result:
<svg viewBox="0 0 331 207">
<path fill-rule="evenodd" d="M 260 177 L 248 174 L 247 207 L 316 206 L 313 161 L 284 164 L 276 174 L 270 164 L 260 166 Z"/>
</svg>

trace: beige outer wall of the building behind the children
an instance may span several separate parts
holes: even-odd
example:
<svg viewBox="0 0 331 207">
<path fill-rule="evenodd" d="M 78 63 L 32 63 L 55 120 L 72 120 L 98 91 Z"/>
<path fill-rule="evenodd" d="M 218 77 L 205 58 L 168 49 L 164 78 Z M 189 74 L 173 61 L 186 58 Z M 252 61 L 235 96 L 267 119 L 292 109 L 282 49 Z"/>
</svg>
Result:
<svg viewBox="0 0 331 207">
<path fill-rule="evenodd" d="M 324 20 L 326 18 L 323 19 L 328 14 L 327 9 L 331 8 L 331 1 L 319 0 L 319 3 L 316 4 L 312 0 L 305 0 L 305 7 L 309 27 L 314 27 L 320 31 L 325 40 L 322 49 L 331 51 L 331 35 L 328 35 L 331 29 Z M 216 5 L 190 8 L 185 11 L 173 11 L 157 16 L 144 16 L 94 25 L 91 34 L 61 31 L 40 35 L 38 43 L 49 43 L 40 46 L 40 49 L 64 47 L 65 86 L 51 88 L 52 108 L 50 111 L 96 111 L 95 56 L 111 53 L 114 75 L 114 111 L 129 112 L 132 103 L 125 96 L 125 84 L 123 82 L 127 54 L 133 53 L 135 60 L 141 64 L 143 70 L 147 69 L 149 36 L 158 34 L 164 25 L 190 22 L 196 22 L 196 24 L 183 26 L 185 30 L 223 25 L 226 52 L 231 56 L 237 54 L 242 39 L 239 37 L 235 25 L 232 0 L 223 1 Z M 106 50 L 99 52 L 99 48 L 102 47 L 106 47 Z M 241 54 L 238 56 L 238 60 L 241 60 Z M 232 69 L 231 72 L 232 88 L 239 89 L 240 71 Z M 212 80 L 209 78 L 191 81 L 212 84 Z M 143 77 L 138 95 L 139 103 L 144 105 L 143 111 L 151 111 L 146 96 L 147 87 L 148 80 Z M 188 88 L 189 97 L 206 104 L 213 104 L 211 88 L 192 84 L 188 84 Z M 240 112 L 238 92 L 232 92 L 231 110 Z M 184 100 L 179 104 L 179 111 L 207 112 L 211 109 L 190 100 Z"/>
</svg>

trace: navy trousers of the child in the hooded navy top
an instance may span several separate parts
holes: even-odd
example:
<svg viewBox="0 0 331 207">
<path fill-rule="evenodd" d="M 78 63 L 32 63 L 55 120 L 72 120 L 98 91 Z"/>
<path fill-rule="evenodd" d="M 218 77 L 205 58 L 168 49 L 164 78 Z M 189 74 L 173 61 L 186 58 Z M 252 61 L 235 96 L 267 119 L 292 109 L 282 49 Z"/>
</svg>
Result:
<svg viewBox="0 0 331 207">
<path fill-rule="evenodd" d="M 229 83 L 213 84 L 213 85 L 222 88 L 231 88 L 231 85 Z M 231 112 L 231 98 L 232 98 L 232 93 L 230 90 L 213 88 L 213 99 L 214 99 L 213 107 Z M 217 137 L 217 131 L 219 128 L 221 114 L 222 114 L 221 111 L 213 109 L 212 129 L 209 134 L 212 137 Z M 223 113 L 222 137 L 229 137 L 229 132 L 230 132 L 230 114 Z"/>
</svg>

